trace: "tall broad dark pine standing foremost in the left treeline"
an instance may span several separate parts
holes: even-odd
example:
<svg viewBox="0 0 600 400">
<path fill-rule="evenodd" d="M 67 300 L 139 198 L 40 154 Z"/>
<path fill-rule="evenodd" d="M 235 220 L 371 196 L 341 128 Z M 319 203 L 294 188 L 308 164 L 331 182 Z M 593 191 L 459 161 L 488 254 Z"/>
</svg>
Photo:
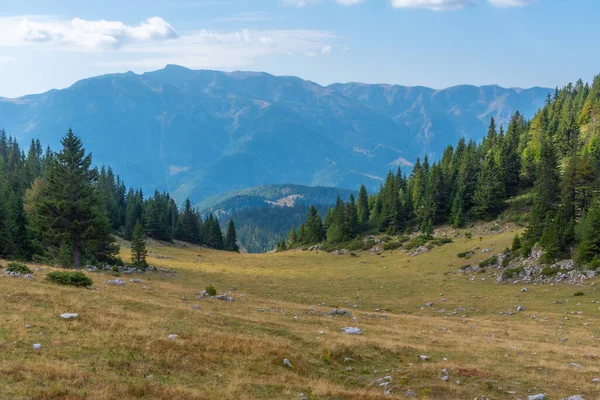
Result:
<svg viewBox="0 0 600 400">
<path fill-rule="evenodd" d="M 98 171 L 91 168 L 81 139 L 69 129 L 61 143 L 44 174 L 35 214 L 47 238 L 70 244 L 73 266 L 79 268 L 82 246 L 106 232 L 95 226 L 103 221 L 98 215 L 104 209 L 96 188 Z"/>
</svg>

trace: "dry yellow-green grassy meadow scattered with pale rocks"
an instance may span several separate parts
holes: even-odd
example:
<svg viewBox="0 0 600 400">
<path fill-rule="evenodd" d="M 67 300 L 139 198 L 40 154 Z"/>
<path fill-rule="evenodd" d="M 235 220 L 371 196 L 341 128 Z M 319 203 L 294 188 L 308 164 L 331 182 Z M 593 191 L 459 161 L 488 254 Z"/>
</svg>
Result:
<svg viewBox="0 0 600 400">
<path fill-rule="evenodd" d="M 521 292 L 459 272 L 493 253 L 457 253 L 498 253 L 513 235 L 455 239 L 414 257 L 153 243 L 149 261 L 175 274 L 123 275 L 127 286 L 116 287 L 90 273 L 94 289 L 46 282 L 45 266 L 36 281 L 0 277 L 0 398 L 389 399 L 409 389 L 424 399 L 600 398 L 595 282 Z M 196 299 L 209 284 L 235 302 Z M 525 311 L 500 315 L 516 305 Z M 328 316 L 333 308 L 352 317 Z"/>
</svg>

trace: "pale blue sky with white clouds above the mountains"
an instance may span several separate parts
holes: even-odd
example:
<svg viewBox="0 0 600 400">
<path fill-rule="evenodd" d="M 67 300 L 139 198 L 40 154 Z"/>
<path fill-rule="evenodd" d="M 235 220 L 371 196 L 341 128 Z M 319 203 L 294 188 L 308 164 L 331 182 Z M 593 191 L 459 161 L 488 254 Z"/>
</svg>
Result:
<svg viewBox="0 0 600 400">
<path fill-rule="evenodd" d="M 167 64 L 556 87 L 600 72 L 599 15 L 597 0 L 0 0 L 0 97 Z"/>
</svg>

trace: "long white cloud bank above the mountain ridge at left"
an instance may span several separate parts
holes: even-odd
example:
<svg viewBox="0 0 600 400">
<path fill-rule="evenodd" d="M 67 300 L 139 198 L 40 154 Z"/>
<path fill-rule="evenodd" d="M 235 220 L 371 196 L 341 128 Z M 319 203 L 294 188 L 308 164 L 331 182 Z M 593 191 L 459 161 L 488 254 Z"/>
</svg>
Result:
<svg viewBox="0 0 600 400">
<path fill-rule="evenodd" d="M 176 32 L 160 17 L 136 26 L 120 21 L 56 17 L 0 17 L 0 48 L 36 52 L 91 53 L 96 63 L 126 68 L 241 68 L 260 57 L 327 54 L 335 39 L 314 30 L 199 30 Z M 24 50 L 27 49 L 27 50 Z M 100 61 L 98 61 L 98 59 Z M 5 61 L 5 60 L 0 60 Z"/>
</svg>

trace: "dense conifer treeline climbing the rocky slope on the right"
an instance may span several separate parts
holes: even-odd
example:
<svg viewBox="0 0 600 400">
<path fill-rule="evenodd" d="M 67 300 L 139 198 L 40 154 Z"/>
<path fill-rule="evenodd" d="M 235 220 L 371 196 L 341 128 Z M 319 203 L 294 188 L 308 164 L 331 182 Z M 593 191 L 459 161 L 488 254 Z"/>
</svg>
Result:
<svg viewBox="0 0 600 400">
<path fill-rule="evenodd" d="M 341 243 L 365 232 L 431 236 L 437 224 L 463 227 L 491 220 L 507 200 L 531 194 L 528 228 L 520 238 L 528 254 L 540 243 L 545 258 L 570 257 L 580 263 L 600 252 L 600 76 L 549 94 L 531 121 L 516 112 L 506 130 L 490 120 L 480 143 L 460 139 L 441 159 L 418 159 L 406 176 L 390 172 L 379 193 L 338 199 L 324 220 L 310 210 L 304 224 L 279 248 L 322 241 Z M 599 262 L 600 263 L 600 262 Z"/>
</svg>

